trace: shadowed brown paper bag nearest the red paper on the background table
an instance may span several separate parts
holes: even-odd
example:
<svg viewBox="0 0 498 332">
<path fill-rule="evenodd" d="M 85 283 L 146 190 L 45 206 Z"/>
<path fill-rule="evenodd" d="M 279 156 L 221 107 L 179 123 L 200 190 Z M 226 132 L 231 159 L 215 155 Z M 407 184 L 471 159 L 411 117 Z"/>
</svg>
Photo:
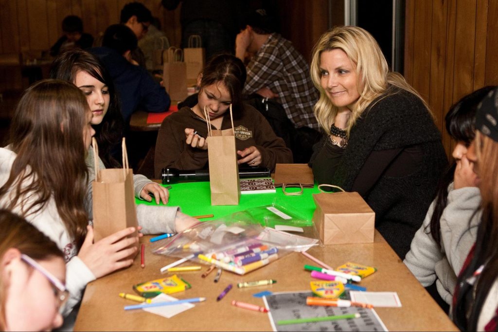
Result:
<svg viewBox="0 0 498 332">
<path fill-rule="evenodd" d="M 170 47 L 163 52 L 162 80 L 172 101 L 181 102 L 187 98 L 187 67 L 179 48 Z"/>
</svg>

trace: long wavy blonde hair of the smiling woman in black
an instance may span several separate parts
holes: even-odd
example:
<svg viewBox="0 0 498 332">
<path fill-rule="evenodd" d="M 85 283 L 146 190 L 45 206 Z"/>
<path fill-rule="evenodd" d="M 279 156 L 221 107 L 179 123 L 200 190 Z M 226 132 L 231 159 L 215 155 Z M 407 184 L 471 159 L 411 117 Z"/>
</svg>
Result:
<svg viewBox="0 0 498 332">
<path fill-rule="evenodd" d="M 373 100 L 385 94 L 389 85 L 409 91 L 429 107 L 422 97 L 398 73 L 390 72 L 387 61 L 373 36 L 357 26 L 337 26 L 325 32 L 313 48 L 310 75 L 315 87 L 320 91 L 320 99 L 315 104 L 314 112 L 318 123 L 327 134 L 334 123 L 338 108 L 332 104 L 321 86 L 320 56 L 324 51 L 341 49 L 352 63 L 356 65 L 357 87 L 360 98 L 355 103 L 346 131 L 350 132 L 356 120 L 371 105 Z M 389 94 L 385 94 L 387 97 Z M 379 99 L 380 100 L 380 99 Z M 378 101 L 378 100 L 377 100 Z M 430 112 L 430 111 L 429 111 Z"/>
</svg>

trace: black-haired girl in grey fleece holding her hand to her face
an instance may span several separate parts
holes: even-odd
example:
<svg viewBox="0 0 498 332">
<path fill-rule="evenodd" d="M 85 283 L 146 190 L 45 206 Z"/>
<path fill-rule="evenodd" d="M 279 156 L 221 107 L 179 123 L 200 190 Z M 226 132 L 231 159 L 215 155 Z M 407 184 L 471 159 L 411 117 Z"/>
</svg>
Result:
<svg viewBox="0 0 498 332">
<path fill-rule="evenodd" d="M 475 137 L 479 103 L 494 87 L 465 96 L 446 114 L 446 130 L 456 140 L 454 163 L 442 175 L 434 201 L 415 233 L 404 263 L 448 313 L 457 275 L 477 236 L 481 195 L 467 150 Z"/>
</svg>

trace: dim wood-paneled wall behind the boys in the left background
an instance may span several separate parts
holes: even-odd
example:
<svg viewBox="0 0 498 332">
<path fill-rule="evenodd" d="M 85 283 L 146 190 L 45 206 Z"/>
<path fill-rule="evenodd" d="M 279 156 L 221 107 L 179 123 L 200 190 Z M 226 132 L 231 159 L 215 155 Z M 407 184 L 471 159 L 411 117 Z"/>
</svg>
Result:
<svg viewBox="0 0 498 332">
<path fill-rule="evenodd" d="M 85 32 L 97 36 L 119 23 L 121 8 L 130 0 L 0 0 L 0 54 L 49 49 L 62 35 L 67 15 L 78 15 Z M 171 44 L 178 39 L 179 7 L 165 10 L 161 0 L 141 0 L 157 16 Z"/>
</svg>

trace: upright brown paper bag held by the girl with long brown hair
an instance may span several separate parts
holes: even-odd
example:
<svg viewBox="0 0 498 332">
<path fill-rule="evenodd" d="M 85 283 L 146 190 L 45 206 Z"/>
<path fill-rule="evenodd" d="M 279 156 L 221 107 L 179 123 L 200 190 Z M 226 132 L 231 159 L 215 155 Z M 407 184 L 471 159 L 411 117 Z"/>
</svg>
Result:
<svg viewBox="0 0 498 332">
<path fill-rule="evenodd" d="M 92 144 L 95 158 L 95 181 L 92 183 L 93 224 L 94 241 L 97 242 L 126 227 L 137 227 L 138 221 L 133 190 L 133 170 L 128 167 L 124 138 L 123 168 L 99 169 L 99 150 L 95 138 L 92 139 Z M 137 236 L 136 231 L 131 236 Z"/>
</svg>

